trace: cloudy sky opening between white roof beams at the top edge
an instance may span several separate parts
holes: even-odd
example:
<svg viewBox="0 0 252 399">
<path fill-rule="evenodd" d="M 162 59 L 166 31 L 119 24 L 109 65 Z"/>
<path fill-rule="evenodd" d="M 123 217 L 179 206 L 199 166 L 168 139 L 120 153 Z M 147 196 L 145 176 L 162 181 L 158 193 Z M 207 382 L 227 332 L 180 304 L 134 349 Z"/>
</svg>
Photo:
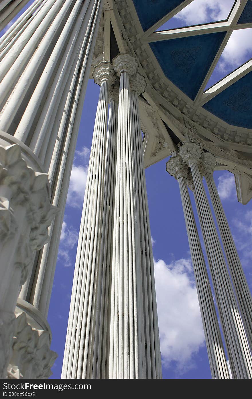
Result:
<svg viewBox="0 0 252 399">
<path fill-rule="evenodd" d="M 225 2 L 193 0 L 173 18 L 160 26 L 156 32 L 226 20 L 233 4 L 234 0 L 225 0 Z"/>
</svg>

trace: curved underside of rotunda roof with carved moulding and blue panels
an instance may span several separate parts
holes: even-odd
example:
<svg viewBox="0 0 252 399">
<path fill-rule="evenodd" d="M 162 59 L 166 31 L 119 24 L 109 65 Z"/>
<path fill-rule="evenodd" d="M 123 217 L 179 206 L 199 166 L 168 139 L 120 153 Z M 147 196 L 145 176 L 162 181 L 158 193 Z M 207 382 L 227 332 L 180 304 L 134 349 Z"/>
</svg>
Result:
<svg viewBox="0 0 252 399">
<path fill-rule="evenodd" d="M 252 59 L 209 82 L 233 32 L 251 34 L 252 0 L 222 0 L 230 5 L 225 19 L 174 27 L 175 16 L 197 1 L 104 0 L 93 65 L 118 52 L 137 58 L 147 81 L 140 97 L 146 167 L 194 140 L 217 156 L 217 168 L 235 174 L 238 199 L 246 203 L 252 197 Z"/>
</svg>

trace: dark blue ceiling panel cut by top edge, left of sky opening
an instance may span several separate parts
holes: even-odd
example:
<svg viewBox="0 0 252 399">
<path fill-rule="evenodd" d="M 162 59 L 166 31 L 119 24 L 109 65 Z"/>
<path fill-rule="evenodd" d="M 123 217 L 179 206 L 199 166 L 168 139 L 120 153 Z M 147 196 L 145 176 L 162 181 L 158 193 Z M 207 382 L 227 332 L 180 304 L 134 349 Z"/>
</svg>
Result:
<svg viewBox="0 0 252 399">
<path fill-rule="evenodd" d="M 144 31 L 178 7 L 184 0 L 133 0 Z"/>
</svg>

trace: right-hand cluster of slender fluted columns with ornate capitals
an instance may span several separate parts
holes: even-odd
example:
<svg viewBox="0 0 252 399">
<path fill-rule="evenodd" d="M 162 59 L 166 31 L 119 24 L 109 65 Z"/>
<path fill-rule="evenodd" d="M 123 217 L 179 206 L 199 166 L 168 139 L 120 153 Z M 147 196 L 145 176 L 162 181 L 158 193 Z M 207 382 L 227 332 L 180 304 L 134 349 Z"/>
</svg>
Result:
<svg viewBox="0 0 252 399">
<path fill-rule="evenodd" d="M 178 180 L 180 187 L 212 377 L 251 379 L 252 298 L 213 180 L 215 165 L 216 158 L 213 155 L 202 152 L 197 144 L 185 143 L 180 147 L 178 155 L 170 158 L 167 162 L 166 170 Z M 202 176 L 205 176 L 207 182 L 229 269 L 225 262 Z M 221 332 L 187 185 L 193 191 L 195 198 L 231 376 L 227 368 Z"/>
</svg>

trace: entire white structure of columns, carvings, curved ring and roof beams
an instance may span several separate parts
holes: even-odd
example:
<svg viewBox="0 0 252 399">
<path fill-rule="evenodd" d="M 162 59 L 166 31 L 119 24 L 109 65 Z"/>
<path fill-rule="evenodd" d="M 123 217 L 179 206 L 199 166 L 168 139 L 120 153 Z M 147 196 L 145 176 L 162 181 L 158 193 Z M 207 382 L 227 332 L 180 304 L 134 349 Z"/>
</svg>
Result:
<svg viewBox="0 0 252 399">
<path fill-rule="evenodd" d="M 48 378 L 57 356 L 47 313 L 91 78 L 100 97 L 62 377 L 162 378 L 145 168 L 172 156 L 212 378 L 252 378 L 252 299 L 213 180 L 229 170 L 238 201 L 252 198 L 252 130 L 202 108 L 252 70 L 250 60 L 204 92 L 232 32 L 252 23 L 237 24 L 240 0 L 225 21 L 155 32 L 190 2 L 144 31 L 132 0 L 35 0 L 0 38 L 0 377 Z M 2 0 L 0 30 L 25 4 Z M 149 43 L 214 32 L 225 38 L 191 100 Z"/>
</svg>

